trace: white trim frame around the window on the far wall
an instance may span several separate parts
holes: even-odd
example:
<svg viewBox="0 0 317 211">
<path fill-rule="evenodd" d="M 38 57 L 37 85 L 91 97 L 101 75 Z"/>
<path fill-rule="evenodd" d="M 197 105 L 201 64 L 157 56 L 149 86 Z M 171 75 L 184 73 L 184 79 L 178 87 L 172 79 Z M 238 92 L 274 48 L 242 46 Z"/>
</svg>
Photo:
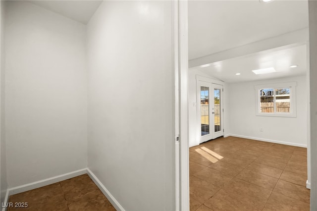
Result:
<svg viewBox="0 0 317 211">
<path fill-rule="evenodd" d="M 255 89 L 255 98 L 256 98 L 256 115 L 257 116 L 278 116 L 278 117 L 296 117 L 296 82 L 286 82 L 286 83 L 275 83 L 275 84 L 262 84 L 254 86 Z M 291 112 L 289 113 L 261 113 L 260 112 L 260 89 L 282 89 L 282 88 L 291 88 L 290 89 L 290 102 L 291 102 Z"/>
</svg>

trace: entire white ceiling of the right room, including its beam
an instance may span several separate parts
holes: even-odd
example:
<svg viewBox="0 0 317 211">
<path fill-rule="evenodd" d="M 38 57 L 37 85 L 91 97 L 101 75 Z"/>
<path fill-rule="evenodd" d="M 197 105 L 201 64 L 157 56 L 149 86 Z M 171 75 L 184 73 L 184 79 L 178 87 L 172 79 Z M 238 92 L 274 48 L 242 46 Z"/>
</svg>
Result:
<svg viewBox="0 0 317 211">
<path fill-rule="evenodd" d="M 227 83 L 307 71 L 307 0 L 192 0 L 188 14 L 191 69 Z M 292 64 L 298 67 L 290 68 Z M 276 72 L 251 71 L 266 67 Z"/>
</svg>

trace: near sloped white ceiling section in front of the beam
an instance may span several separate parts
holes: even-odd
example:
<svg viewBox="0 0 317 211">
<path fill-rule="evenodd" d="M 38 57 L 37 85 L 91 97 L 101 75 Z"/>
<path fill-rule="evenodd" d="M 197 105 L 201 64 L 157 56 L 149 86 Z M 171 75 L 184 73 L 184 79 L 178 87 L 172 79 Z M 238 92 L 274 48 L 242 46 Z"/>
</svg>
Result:
<svg viewBox="0 0 317 211">
<path fill-rule="evenodd" d="M 190 0 L 189 60 L 308 27 L 307 0 Z"/>
</svg>

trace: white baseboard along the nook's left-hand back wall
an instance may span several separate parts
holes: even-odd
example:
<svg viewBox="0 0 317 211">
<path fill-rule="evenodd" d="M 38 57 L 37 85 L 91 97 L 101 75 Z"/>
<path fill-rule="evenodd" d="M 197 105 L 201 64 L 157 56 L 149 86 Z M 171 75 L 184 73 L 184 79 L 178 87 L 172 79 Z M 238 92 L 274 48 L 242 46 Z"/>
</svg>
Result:
<svg viewBox="0 0 317 211">
<path fill-rule="evenodd" d="M 43 179 L 43 180 L 39 180 L 39 181 L 36 181 L 36 182 L 28 183 L 28 184 L 25 184 L 25 185 L 20 185 L 20 186 L 17 186 L 17 187 L 9 188 L 8 189 L 8 192 L 9 192 L 8 195 L 11 196 L 11 195 L 22 193 L 22 192 L 25 192 L 25 191 L 30 191 L 30 190 L 33 190 L 33 189 L 36 189 L 36 188 L 40 188 L 40 187 L 43 187 L 43 186 L 46 186 L 46 185 L 51 185 L 53 183 L 60 182 L 60 181 L 66 180 L 66 179 L 70 179 L 70 178 L 73 178 L 73 177 L 76 177 L 76 176 L 80 176 L 80 175 L 83 175 L 83 174 L 86 174 L 86 173 L 87 173 L 87 168 L 83 168 L 83 169 L 80 169 L 80 170 L 77 170 L 77 171 L 72 171 L 72 172 L 69 172 L 69 173 L 65 173 L 65 174 L 61 174 L 61 175 L 58 175 L 58 176 L 54 176 L 54 177 L 51 177 L 51 178 L 48 178 L 48 179 Z"/>
</svg>

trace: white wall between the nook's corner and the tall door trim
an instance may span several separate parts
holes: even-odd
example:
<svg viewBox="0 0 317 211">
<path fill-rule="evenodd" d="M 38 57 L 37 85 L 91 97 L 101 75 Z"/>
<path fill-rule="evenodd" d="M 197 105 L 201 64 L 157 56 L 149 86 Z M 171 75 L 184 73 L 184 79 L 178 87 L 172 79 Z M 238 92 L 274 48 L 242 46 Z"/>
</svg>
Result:
<svg viewBox="0 0 317 211">
<path fill-rule="evenodd" d="M 87 25 L 88 167 L 128 211 L 175 210 L 170 1 L 104 1 Z"/>
</svg>

